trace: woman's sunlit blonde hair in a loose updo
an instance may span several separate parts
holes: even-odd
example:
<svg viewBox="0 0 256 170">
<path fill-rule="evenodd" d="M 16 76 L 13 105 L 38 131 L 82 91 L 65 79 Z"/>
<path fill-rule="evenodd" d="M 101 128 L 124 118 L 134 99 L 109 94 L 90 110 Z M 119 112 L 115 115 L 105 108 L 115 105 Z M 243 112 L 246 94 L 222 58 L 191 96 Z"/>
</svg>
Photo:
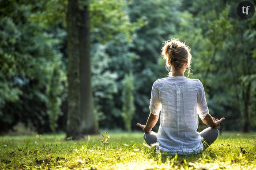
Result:
<svg viewBox="0 0 256 170">
<path fill-rule="evenodd" d="M 162 47 L 162 57 L 166 60 L 166 67 L 170 68 L 171 65 L 175 70 L 180 70 L 181 67 L 188 61 L 187 70 L 188 76 L 190 74 L 190 64 L 192 55 L 190 48 L 179 39 L 172 38 L 171 41 L 164 41 Z M 171 65 L 169 65 L 169 63 Z M 169 71 L 169 76 L 172 75 L 172 70 Z"/>
</svg>

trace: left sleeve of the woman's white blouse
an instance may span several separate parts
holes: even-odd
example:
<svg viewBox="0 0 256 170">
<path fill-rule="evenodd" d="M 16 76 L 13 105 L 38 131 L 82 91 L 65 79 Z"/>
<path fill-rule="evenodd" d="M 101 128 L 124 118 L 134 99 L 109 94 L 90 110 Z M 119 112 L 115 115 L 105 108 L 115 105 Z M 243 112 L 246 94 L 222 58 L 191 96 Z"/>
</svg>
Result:
<svg viewBox="0 0 256 170">
<path fill-rule="evenodd" d="M 159 99 L 159 89 L 157 87 L 157 81 L 155 81 L 152 86 L 149 110 L 153 115 L 159 115 L 159 112 L 162 110 L 162 103 Z"/>
</svg>

